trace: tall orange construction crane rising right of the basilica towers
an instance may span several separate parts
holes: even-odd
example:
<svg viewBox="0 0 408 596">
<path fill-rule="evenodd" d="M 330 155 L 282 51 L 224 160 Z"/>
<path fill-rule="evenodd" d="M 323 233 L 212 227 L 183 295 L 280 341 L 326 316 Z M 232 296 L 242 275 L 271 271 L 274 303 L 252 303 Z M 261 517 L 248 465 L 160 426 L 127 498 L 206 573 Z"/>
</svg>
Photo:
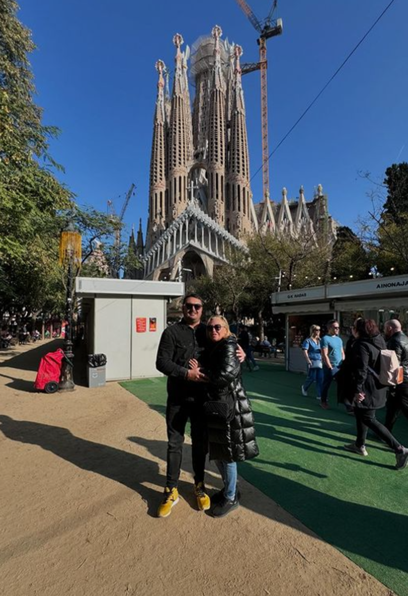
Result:
<svg viewBox="0 0 408 596">
<path fill-rule="evenodd" d="M 262 22 L 253 14 L 245 0 L 236 1 L 259 33 L 259 38 L 257 39 L 259 45 L 259 62 L 242 64 L 241 73 L 246 75 L 253 72 L 253 70 L 261 70 L 262 193 L 265 199 L 269 197 L 268 85 L 266 78 L 268 61 L 266 60 L 266 40 L 281 35 L 283 21 L 281 18 L 272 18 L 277 8 L 277 0 L 272 2 L 271 10 Z"/>
</svg>

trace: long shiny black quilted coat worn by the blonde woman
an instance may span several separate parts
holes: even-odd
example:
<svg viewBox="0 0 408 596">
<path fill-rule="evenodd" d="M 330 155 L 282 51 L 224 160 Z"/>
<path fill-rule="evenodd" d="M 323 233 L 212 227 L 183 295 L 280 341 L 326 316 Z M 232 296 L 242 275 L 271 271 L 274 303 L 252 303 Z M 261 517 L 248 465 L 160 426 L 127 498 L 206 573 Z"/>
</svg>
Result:
<svg viewBox="0 0 408 596">
<path fill-rule="evenodd" d="M 211 346 L 206 358 L 209 400 L 234 401 L 230 422 L 208 419 L 210 460 L 244 461 L 259 454 L 252 408 L 241 383 L 241 365 L 236 352 L 237 342 L 231 336 Z"/>
</svg>

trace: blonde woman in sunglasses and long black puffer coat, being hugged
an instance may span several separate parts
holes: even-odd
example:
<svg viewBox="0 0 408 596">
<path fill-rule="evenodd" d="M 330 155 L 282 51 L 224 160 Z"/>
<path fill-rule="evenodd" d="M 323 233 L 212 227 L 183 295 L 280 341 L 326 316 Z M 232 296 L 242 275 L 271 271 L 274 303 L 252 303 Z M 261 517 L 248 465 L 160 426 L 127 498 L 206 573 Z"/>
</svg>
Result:
<svg viewBox="0 0 408 596">
<path fill-rule="evenodd" d="M 207 333 L 212 342 L 204 356 L 209 381 L 205 403 L 209 458 L 215 460 L 224 481 L 224 489 L 211 498 L 212 514 L 222 517 L 239 505 L 236 462 L 256 457 L 259 449 L 252 408 L 241 381 L 236 337 L 227 319 L 218 315 L 209 319 Z"/>
</svg>

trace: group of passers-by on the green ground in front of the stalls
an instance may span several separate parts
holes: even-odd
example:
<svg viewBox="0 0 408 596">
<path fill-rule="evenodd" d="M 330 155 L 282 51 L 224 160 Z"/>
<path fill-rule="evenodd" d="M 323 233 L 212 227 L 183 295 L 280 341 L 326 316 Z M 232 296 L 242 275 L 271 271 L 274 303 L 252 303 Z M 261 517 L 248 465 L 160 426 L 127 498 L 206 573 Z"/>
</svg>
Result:
<svg viewBox="0 0 408 596">
<path fill-rule="evenodd" d="M 394 451 L 396 468 L 403 470 L 408 463 L 408 449 L 391 431 L 400 412 L 408 419 L 408 337 L 397 319 L 385 323 L 383 337 L 374 319 L 357 318 L 345 349 L 339 333 L 335 319 L 328 322 L 327 334 L 322 338 L 319 325 L 310 327 L 310 335 L 302 344 L 308 367 L 302 395 L 307 396 L 315 383 L 320 405 L 328 409 L 328 391 L 335 380 L 338 402 L 356 419 L 356 440 L 344 449 L 366 457 L 370 429 Z M 384 406 L 382 424 L 376 410 Z"/>
</svg>

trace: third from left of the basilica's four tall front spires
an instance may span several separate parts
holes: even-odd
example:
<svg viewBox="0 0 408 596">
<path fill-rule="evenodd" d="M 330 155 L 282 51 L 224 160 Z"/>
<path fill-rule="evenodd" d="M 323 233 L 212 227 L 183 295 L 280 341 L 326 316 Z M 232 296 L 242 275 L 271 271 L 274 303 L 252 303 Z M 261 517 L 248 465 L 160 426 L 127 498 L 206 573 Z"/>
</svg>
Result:
<svg viewBox="0 0 408 596">
<path fill-rule="evenodd" d="M 226 153 L 225 81 L 222 73 L 219 38 L 221 27 L 212 29 L 214 37 L 214 67 L 209 105 L 208 139 L 208 213 L 218 224 L 224 225 L 224 178 Z"/>
</svg>

